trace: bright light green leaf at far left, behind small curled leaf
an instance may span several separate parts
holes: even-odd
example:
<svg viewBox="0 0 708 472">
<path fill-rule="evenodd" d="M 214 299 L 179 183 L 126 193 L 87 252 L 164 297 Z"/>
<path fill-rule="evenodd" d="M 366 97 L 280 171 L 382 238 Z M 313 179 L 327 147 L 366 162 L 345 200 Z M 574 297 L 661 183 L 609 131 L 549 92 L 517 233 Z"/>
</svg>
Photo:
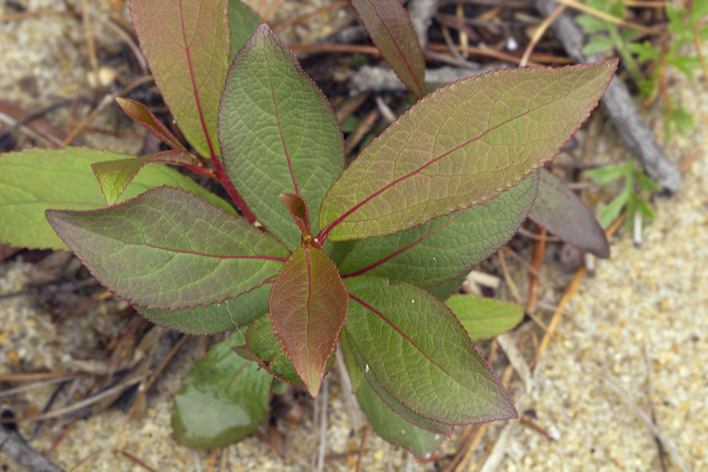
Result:
<svg viewBox="0 0 708 472">
<path fill-rule="evenodd" d="M 0 154 L 0 242 L 16 247 L 68 250 L 47 223 L 45 210 L 105 207 L 105 198 L 91 164 L 127 157 L 86 147 Z M 163 184 L 179 186 L 229 213 L 236 213 L 229 203 L 202 189 L 195 181 L 158 164 L 144 167 L 119 201 Z"/>
</svg>

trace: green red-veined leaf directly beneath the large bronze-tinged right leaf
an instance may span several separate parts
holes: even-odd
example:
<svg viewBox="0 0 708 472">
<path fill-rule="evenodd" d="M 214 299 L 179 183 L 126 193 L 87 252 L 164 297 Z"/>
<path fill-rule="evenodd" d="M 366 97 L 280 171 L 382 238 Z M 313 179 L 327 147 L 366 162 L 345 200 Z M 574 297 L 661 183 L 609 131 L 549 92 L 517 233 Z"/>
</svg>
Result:
<svg viewBox="0 0 708 472">
<path fill-rule="evenodd" d="M 432 286 L 484 261 L 513 237 L 529 213 L 537 173 L 491 201 L 440 216 L 410 230 L 359 240 L 340 264 L 344 279 L 359 274 Z"/>
</svg>

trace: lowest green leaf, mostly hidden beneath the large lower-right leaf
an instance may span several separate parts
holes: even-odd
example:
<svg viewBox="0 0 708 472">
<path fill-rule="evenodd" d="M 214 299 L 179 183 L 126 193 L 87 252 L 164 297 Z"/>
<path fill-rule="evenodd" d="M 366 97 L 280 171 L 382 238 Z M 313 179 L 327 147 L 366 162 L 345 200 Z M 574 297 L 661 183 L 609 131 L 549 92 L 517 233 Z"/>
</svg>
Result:
<svg viewBox="0 0 708 472">
<path fill-rule="evenodd" d="M 408 449 L 418 459 L 428 459 L 445 439 L 442 434 L 421 429 L 396 415 L 367 382 L 362 383 L 356 398 L 376 434 L 396 446 Z"/>
</svg>

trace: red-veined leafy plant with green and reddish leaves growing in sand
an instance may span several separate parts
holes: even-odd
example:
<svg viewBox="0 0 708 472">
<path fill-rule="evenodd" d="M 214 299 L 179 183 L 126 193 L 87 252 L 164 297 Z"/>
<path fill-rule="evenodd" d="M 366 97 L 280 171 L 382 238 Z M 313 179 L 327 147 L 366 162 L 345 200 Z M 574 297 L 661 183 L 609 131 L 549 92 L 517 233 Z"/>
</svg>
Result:
<svg viewBox="0 0 708 472">
<path fill-rule="evenodd" d="M 142 50 L 190 147 L 147 108 L 122 101 L 173 150 L 118 159 L 75 148 L 8 154 L 0 179 L 73 167 L 16 185 L 0 203 L 24 212 L 45 237 L 36 217 L 47 209 L 57 235 L 103 286 L 150 320 L 190 333 L 232 331 L 176 396 L 173 428 L 183 444 L 223 446 L 251 434 L 273 377 L 318 395 L 338 340 L 377 432 L 418 456 L 454 425 L 517 417 L 471 338 L 508 330 L 523 311 L 441 298 L 513 236 L 537 192 L 573 208 L 539 169 L 596 106 L 617 60 L 504 69 L 442 87 L 345 169 L 324 94 L 268 26 L 256 28 L 252 12 L 228 4 L 131 3 Z M 234 24 L 239 12 L 253 30 L 235 54 L 229 16 Z M 409 68 L 399 59 L 392 64 Z M 410 69 L 404 82 L 415 89 L 422 79 Z M 142 193 L 142 176 L 164 162 L 222 183 L 244 216 L 178 179 Z M 89 163 L 108 207 L 98 208 L 88 188 Z M 73 189 L 76 182 L 87 188 Z M 140 194 L 122 201 L 124 193 Z M 0 235 L 33 241 L 27 228 L 13 231 Z M 60 247 L 46 240 L 26 245 Z"/>
</svg>

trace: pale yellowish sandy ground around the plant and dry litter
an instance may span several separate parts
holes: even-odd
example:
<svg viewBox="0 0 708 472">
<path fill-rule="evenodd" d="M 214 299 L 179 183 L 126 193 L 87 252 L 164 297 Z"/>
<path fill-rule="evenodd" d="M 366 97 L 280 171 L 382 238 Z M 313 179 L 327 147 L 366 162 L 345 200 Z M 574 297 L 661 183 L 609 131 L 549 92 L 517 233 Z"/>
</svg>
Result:
<svg viewBox="0 0 708 472">
<path fill-rule="evenodd" d="M 51 1 L 30 1 L 30 9 L 52 6 Z M 111 4 L 96 6 L 109 12 Z M 86 86 L 85 50 L 78 23 L 67 18 L 45 18 L 0 25 L 4 38 L 0 95 L 15 97 L 29 108 L 42 106 L 57 97 L 72 98 Z M 99 32 L 98 40 L 110 43 L 110 32 Z M 101 39 L 103 38 L 103 39 Z M 13 45 L 14 44 L 14 45 Z M 50 45 L 50 47 L 47 47 Z M 58 57 L 58 59 L 57 59 Z M 54 72 L 52 72 L 54 71 Z M 28 75 L 38 77 L 38 91 L 18 87 Z M 52 77 L 52 74 L 53 77 Z M 673 90 L 678 101 L 694 114 L 696 129 L 689 137 L 667 143 L 678 160 L 697 149 L 705 150 L 708 134 L 708 94 L 703 84 L 677 78 Z M 661 135 L 661 123 L 656 130 Z M 133 145 L 135 147 L 135 145 Z M 597 162 L 624 159 L 612 142 L 603 140 Z M 551 442 L 527 427 L 516 426 L 508 442 L 500 471 L 656 471 L 661 470 L 653 434 L 629 406 L 650 415 L 656 410 L 656 425 L 673 445 L 687 470 L 708 470 L 708 160 L 698 159 L 684 174 L 680 192 L 672 198 L 656 198 L 656 222 L 644 232 L 644 244 L 637 249 L 625 232 L 612 240 L 612 259 L 598 262 L 597 276 L 586 278 L 566 307 L 557 336 L 534 371 L 527 417 L 556 439 Z M 549 249 L 544 264 L 544 303 L 559 299 L 569 276 L 559 274 Z M 0 294 L 21 291 L 28 283 L 31 266 L 19 262 L 0 267 Z M 524 287 L 525 273 L 515 268 L 518 284 Z M 86 323 L 115 322 L 107 308 L 91 311 Z M 550 313 L 542 313 L 549 320 Z M 0 373 L 59 369 L 67 366 L 67 349 L 74 342 L 73 331 L 52 327 L 47 315 L 30 298 L 0 300 Z M 539 331 L 537 330 L 537 333 Z M 515 334 L 515 335 L 518 335 Z M 90 339 L 86 339 L 89 342 Z M 72 429 L 52 459 L 72 469 L 91 456 L 79 471 L 144 470 L 123 456 L 120 449 L 142 459 L 156 471 L 207 470 L 209 451 L 190 451 L 171 438 L 171 398 L 181 378 L 193 363 L 194 349 L 184 349 L 158 383 L 149 400 L 148 414 L 131 422 L 116 434 L 125 412 L 110 410 Z M 650 375 L 647 376 L 647 358 Z M 500 364 L 503 369 L 503 364 Z M 496 367 L 496 365 L 495 365 Z M 512 381 L 512 393 L 523 389 Z M 611 385 L 627 392 L 617 393 Z M 43 405 L 50 388 L 33 390 L 21 399 L 23 408 Z M 340 391 L 333 378 L 327 437 L 328 454 L 358 449 L 361 432 L 354 432 L 343 409 Z M 5 403 L 1 403 L 1 402 Z M 10 404 L 0 400 L 1 405 Z M 467 470 L 479 471 L 496 443 L 503 423 L 493 425 L 478 446 Z M 23 425 L 28 432 L 29 425 Z M 280 425 L 286 440 L 283 461 L 270 446 L 256 438 L 225 448 L 215 470 L 222 471 L 306 471 L 315 442 L 312 420 L 299 427 Z M 49 434 L 60 429 L 42 429 L 32 442 L 38 451 L 49 448 Z M 459 432 L 457 433 L 459 435 Z M 455 451 L 455 437 L 442 446 L 441 454 Z M 407 454 L 371 434 L 362 461 L 363 471 L 406 468 Z M 668 459 L 668 470 L 680 470 Z M 2 470 L 19 471 L 0 453 Z M 352 471 L 353 456 L 332 461 L 326 471 Z M 436 470 L 433 463 L 410 465 L 411 471 Z"/>
</svg>

